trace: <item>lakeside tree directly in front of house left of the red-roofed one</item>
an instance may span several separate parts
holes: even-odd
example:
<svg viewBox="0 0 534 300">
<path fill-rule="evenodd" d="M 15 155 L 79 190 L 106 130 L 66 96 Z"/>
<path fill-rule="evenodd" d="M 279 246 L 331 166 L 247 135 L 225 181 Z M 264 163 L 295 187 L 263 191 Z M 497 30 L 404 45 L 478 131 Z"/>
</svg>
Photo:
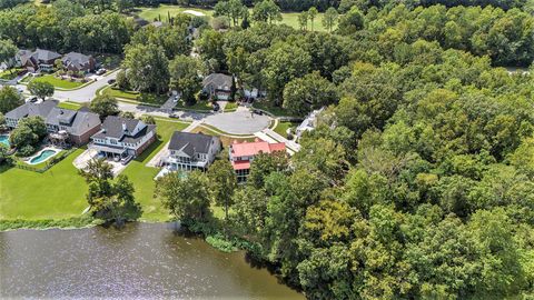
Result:
<svg viewBox="0 0 534 300">
<path fill-rule="evenodd" d="M 182 223 L 202 222 L 209 217 L 208 179 L 200 171 L 189 172 L 186 177 L 172 172 L 158 179 L 155 194 Z"/>
</svg>

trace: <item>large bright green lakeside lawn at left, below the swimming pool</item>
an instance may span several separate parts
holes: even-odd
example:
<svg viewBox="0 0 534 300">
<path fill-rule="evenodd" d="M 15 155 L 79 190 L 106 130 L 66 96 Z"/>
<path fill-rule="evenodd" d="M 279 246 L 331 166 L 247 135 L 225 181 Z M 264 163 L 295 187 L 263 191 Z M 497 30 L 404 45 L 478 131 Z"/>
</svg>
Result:
<svg viewBox="0 0 534 300">
<path fill-rule="evenodd" d="M 72 164 L 82 149 L 43 173 L 0 167 L 0 219 L 65 219 L 87 208 L 87 184 Z"/>
</svg>

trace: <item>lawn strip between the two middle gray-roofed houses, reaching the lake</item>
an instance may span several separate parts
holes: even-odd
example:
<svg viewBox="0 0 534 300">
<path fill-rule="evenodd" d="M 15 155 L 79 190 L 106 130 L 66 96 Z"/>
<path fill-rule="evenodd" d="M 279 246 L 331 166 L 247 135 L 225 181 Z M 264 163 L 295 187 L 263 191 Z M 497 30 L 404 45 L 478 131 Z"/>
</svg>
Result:
<svg viewBox="0 0 534 300">
<path fill-rule="evenodd" d="M 167 211 L 162 208 L 159 199 L 154 198 L 154 190 L 156 182 L 154 178 L 160 171 L 159 168 L 150 168 L 145 164 L 161 150 L 170 140 L 172 132 L 184 130 L 188 123 L 178 123 L 176 121 L 156 120 L 158 126 L 159 140 L 150 148 L 145 150 L 142 156 L 131 161 L 122 174 L 128 176 L 128 179 L 134 183 L 136 189 L 136 200 L 141 203 L 142 216 L 141 220 L 146 221 L 165 221 L 169 219 Z"/>
</svg>

